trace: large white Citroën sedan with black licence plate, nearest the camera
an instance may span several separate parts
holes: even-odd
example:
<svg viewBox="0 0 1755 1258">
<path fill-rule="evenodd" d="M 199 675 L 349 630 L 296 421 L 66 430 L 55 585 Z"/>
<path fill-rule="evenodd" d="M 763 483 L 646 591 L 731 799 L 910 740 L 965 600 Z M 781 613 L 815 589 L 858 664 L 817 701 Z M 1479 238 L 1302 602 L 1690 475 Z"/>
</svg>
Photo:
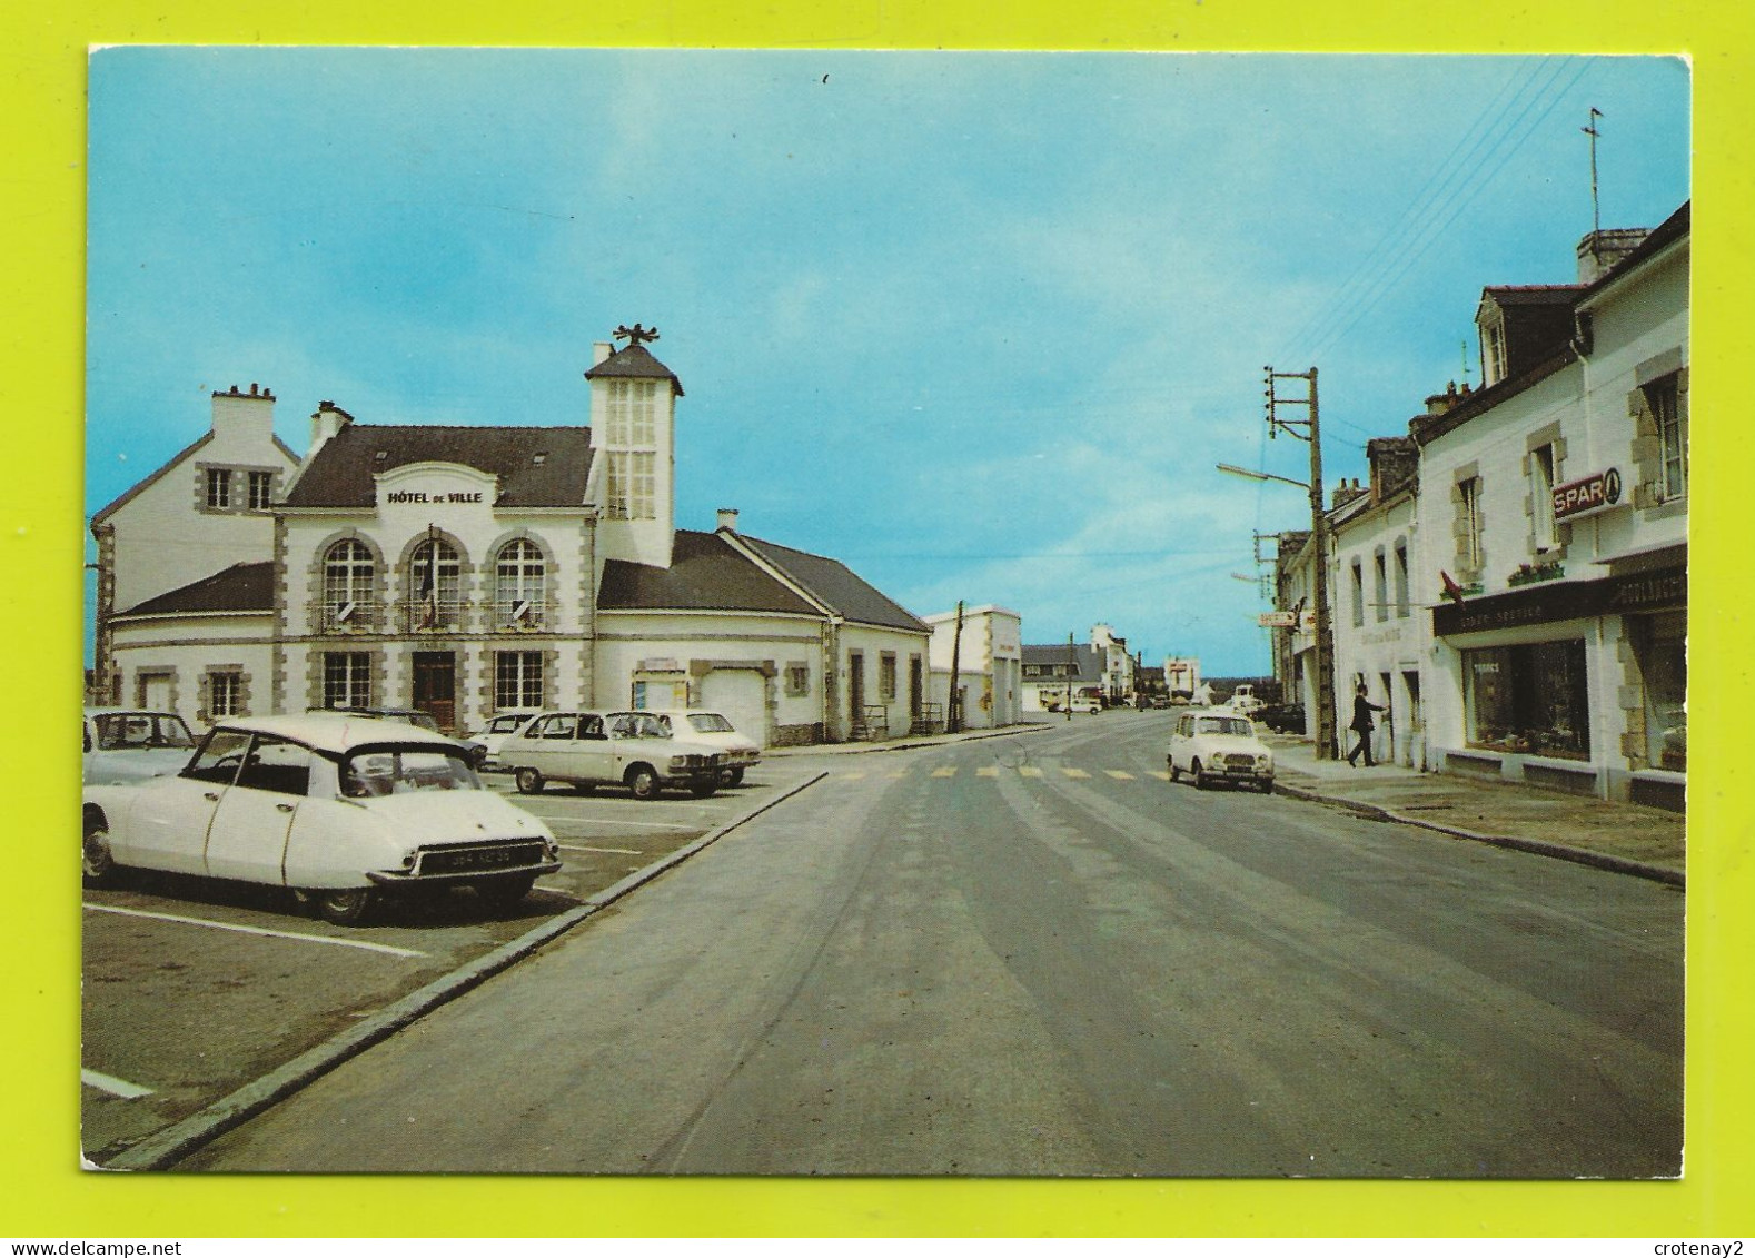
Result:
<svg viewBox="0 0 1755 1258">
<path fill-rule="evenodd" d="M 458 886 L 509 907 L 560 868 L 453 739 L 333 712 L 219 721 L 176 776 L 88 786 L 82 863 L 88 884 L 137 867 L 286 886 L 335 923 Z"/>
</svg>

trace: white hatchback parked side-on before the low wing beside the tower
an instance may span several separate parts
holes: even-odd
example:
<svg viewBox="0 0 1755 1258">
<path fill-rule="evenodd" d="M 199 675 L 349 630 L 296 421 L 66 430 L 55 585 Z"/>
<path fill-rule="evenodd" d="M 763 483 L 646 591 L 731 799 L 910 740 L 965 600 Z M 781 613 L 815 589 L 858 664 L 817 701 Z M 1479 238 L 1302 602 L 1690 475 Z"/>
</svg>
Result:
<svg viewBox="0 0 1755 1258">
<path fill-rule="evenodd" d="M 542 712 L 500 744 L 500 765 L 518 790 L 548 783 L 581 791 L 627 786 L 655 800 L 665 788 L 706 798 L 720 788 L 727 758 L 718 747 L 670 733 L 651 712 Z"/>
</svg>

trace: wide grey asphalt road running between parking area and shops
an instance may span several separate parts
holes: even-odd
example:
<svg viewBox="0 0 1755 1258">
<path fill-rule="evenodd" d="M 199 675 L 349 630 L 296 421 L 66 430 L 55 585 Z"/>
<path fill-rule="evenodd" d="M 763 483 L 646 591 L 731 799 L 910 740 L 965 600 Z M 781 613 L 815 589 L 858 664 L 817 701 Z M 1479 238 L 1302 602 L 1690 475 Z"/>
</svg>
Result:
<svg viewBox="0 0 1755 1258">
<path fill-rule="evenodd" d="M 1680 891 L 1172 786 L 1165 726 L 793 761 L 181 1169 L 1678 1174 Z"/>
</svg>

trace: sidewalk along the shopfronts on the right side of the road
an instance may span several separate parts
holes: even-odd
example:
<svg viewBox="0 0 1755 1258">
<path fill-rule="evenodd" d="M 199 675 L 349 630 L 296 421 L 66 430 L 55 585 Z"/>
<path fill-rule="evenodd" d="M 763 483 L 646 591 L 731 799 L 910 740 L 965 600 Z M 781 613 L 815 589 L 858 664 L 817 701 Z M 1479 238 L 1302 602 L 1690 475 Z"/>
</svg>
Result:
<svg viewBox="0 0 1755 1258">
<path fill-rule="evenodd" d="M 1353 768 L 1344 760 L 1316 760 L 1306 739 L 1267 740 L 1278 772 L 1274 788 L 1283 795 L 1683 886 L 1680 812 L 1399 765 Z"/>
</svg>

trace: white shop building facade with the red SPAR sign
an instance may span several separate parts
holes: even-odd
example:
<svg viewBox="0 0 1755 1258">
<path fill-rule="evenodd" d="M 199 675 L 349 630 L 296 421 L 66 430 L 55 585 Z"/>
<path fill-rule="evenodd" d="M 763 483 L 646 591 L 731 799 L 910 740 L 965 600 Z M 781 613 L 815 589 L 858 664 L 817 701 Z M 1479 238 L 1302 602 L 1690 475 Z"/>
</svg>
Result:
<svg viewBox="0 0 1755 1258">
<path fill-rule="evenodd" d="M 1427 716 L 1446 768 L 1681 804 L 1688 233 L 1678 219 L 1583 293 L 1564 363 L 1502 400 L 1476 395 L 1460 423 L 1443 418 L 1422 439 L 1422 558 L 1462 586 L 1430 619 Z M 1587 511 L 1550 507 L 1567 498 Z"/>
</svg>

